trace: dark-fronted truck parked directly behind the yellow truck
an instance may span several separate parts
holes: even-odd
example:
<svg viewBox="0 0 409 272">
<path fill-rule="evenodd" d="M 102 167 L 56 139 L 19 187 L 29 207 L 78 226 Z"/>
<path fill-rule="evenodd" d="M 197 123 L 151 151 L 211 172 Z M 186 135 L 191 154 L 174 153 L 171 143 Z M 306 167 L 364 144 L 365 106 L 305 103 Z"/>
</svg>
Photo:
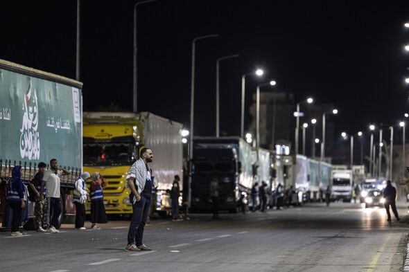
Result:
<svg viewBox="0 0 409 272">
<path fill-rule="evenodd" d="M 239 137 L 196 137 L 191 162 L 191 210 L 210 210 L 209 184 L 217 179 L 219 208 L 236 212 L 253 185 L 252 147 Z"/>
</svg>

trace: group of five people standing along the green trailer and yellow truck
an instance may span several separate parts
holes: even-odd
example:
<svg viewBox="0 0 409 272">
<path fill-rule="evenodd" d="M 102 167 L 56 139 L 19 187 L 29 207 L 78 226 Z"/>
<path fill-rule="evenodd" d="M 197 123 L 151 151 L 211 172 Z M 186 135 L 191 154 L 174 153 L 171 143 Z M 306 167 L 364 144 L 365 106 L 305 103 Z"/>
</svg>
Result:
<svg viewBox="0 0 409 272">
<path fill-rule="evenodd" d="M 35 226 L 37 232 L 59 233 L 58 218 L 61 215 L 60 200 L 60 177 L 70 174 L 68 170 L 58 167 L 57 159 L 50 161 L 50 169 L 46 170 L 46 163 L 38 163 L 38 172 L 28 183 L 28 188 L 21 179 L 21 165 L 16 165 L 12 169 L 12 177 L 8 182 L 7 203 L 12 210 L 11 235 L 22 236 L 19 231 L 21 225 L 21 212 L 26 208 L 27 197 L 35 202 Z M 92 228 L 99 228 L 98 224 L 106 223 L 107 216 L 103 206 L 103 187 L 105 180 L 101 178 L 98 172 L 92 177 L 88 172 L 84 172 L 78 177 L 75 183 L 73 202 L 76 205 L 76 228 L 85 229 L 85 201 L 88 192 L 85 181 L 92 178 L 92 184 L 89 188 L 91 197 L 91 221 Z M 26 192 L 28 189 L 28 192 Z"/>
</svg>

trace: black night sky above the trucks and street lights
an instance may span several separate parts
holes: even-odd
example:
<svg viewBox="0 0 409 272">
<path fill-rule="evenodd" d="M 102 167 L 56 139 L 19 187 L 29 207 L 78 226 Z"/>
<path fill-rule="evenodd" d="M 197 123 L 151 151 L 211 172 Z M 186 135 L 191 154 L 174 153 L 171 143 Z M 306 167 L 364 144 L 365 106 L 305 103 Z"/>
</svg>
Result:
<svg viewBox="0 0 409 272">
<path fill-rule="evenodd" d="M 133 6 L 81 5 L 80 81 L 84 110 L 132 111 Z M 313 96 L 340 111 L 336 130 L 397 124 L 408 109 L 409 1 L 158 0 L 138 8 L 139 111 L 189 126 L 191 44 L 196 47 L 195 134 L 214 135 L 216 60 L 220 131 L 240 133 L 241 76 L 246 109 L 256 84 L 277 80 L 296 101 Z M 0 58 L 75 78 L 76 1 L 1 1 Z M 250 117 L 246 116 L 246 127 Z"/>
</svg>

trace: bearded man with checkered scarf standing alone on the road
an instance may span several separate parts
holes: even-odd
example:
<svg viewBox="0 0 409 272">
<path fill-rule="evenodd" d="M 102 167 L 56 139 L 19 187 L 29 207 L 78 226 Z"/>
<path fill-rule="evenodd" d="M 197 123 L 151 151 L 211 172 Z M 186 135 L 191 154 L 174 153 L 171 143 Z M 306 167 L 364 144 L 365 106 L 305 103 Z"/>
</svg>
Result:
<svg viewBox="0 0 409 272">
<path fill-rule="evenodd" d="M 126 251 L 151 250 L 143 244 L 142 240 L 152 197 L 153 184 L 150 179 L 150 167 L 148 165 L 148 163 L 152 162 L 152 159 L 153 152 L 150 148 L 141 149 L 139 160 L 134 162 L 126 176 L 127 185 L 131 190 L 129 199 L 132 203 L 132 217 L 128 230 Z"/>
</svg>

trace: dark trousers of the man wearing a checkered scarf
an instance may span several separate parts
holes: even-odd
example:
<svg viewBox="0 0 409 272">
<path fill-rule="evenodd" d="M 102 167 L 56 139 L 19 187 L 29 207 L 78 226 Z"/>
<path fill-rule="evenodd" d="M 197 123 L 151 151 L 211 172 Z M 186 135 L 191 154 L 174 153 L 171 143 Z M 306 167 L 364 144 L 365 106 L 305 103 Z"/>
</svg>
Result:
<svg viewBox="0 0 409 272">
<path fill-rule="evenodd" d="M 143 244 L 143 230 L 146 220 L 148 220 L 150 201 L 150 198 L 147 199 L 141 195 L 141 199 L 132 204 L 133 211 L 128 230 L 128 244 L 136 244 L 137 246 Z"/>
</svg>

